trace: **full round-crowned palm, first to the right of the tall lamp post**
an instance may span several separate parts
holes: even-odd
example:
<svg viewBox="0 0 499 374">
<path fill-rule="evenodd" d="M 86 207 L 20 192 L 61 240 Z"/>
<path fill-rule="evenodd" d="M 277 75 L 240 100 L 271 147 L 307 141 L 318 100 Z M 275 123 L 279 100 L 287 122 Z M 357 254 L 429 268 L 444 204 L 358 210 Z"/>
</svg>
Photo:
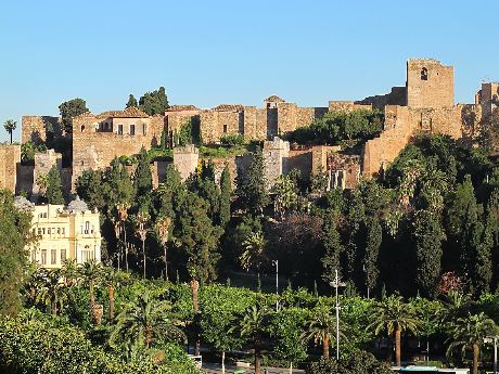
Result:
<svg viewBox="0 0 499 374">
<path fill-rule="evenodd" d="M 417 333 L 419 320 L 412 305 L 404 302 L 399 295 L 392 295 L 375 302 L 368 330 L 375 335 L 386 332 L 395 336 L 395 365 L 400 366 L 400 335 L 404 331 Z"/>
</svg>

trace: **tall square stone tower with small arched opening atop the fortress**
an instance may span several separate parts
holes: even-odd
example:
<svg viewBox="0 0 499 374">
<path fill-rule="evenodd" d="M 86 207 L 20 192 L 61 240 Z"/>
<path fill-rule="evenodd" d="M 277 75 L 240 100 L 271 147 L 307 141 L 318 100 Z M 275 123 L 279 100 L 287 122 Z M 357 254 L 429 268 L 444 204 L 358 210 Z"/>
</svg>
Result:
<svg viewBox="0 0 499 374">
<path fill-rule="evenodd" d="M 407 106 L 440 108 L 453 106 L 453 67 L 433 59 L 407 62 Z"/>
</svg>

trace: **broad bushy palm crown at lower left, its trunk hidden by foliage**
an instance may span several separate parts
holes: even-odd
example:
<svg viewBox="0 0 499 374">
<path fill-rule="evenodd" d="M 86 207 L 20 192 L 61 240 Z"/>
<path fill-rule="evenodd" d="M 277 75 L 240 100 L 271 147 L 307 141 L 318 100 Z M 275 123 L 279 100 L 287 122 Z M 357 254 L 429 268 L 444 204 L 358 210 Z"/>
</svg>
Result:
<svg viewBox="0 0 499 374">
<path fill-rule="evenodd" d="M 158 338 L 185 341 L 183 332 L 171 320 L 171 305 L 154 298 L 150 291 L 139 295 L 137 304 L 128 305 L 116 318 L 116 328 L 111 334 L 112 345 L 131 340 L 151 348 Z"/>
</svg>

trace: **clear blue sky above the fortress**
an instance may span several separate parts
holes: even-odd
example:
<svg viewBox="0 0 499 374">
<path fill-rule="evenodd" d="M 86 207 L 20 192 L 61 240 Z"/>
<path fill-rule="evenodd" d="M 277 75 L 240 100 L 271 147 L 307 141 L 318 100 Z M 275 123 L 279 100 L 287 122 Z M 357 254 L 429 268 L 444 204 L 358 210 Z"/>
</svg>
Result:
<svg viewBox="0 0 499 374">
<path fill-rule="evenodd" d="M 453 65 L 471 103 L 499 80 L 498 14 L 491 0 L 2 1 L 0 121 L 77 96 L 117 109 L 159 86 L 170 104 L 327 106 L 402 86 L 411 56 Z"/>
</svg>

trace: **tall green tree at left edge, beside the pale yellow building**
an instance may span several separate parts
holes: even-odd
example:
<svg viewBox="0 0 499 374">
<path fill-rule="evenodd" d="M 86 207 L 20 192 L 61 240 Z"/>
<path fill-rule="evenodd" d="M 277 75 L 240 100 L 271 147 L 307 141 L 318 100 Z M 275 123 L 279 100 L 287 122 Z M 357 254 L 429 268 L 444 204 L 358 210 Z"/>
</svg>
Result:
<svg viewBox="0 0 499 374">
<path fill-rule="evenodd" d="M 21 287 L 30 243 L 31 214 L 14 207 L 12 193 L 0 189 L 0 314 L 14 315 L 21 308 Z"/>
</svg>

